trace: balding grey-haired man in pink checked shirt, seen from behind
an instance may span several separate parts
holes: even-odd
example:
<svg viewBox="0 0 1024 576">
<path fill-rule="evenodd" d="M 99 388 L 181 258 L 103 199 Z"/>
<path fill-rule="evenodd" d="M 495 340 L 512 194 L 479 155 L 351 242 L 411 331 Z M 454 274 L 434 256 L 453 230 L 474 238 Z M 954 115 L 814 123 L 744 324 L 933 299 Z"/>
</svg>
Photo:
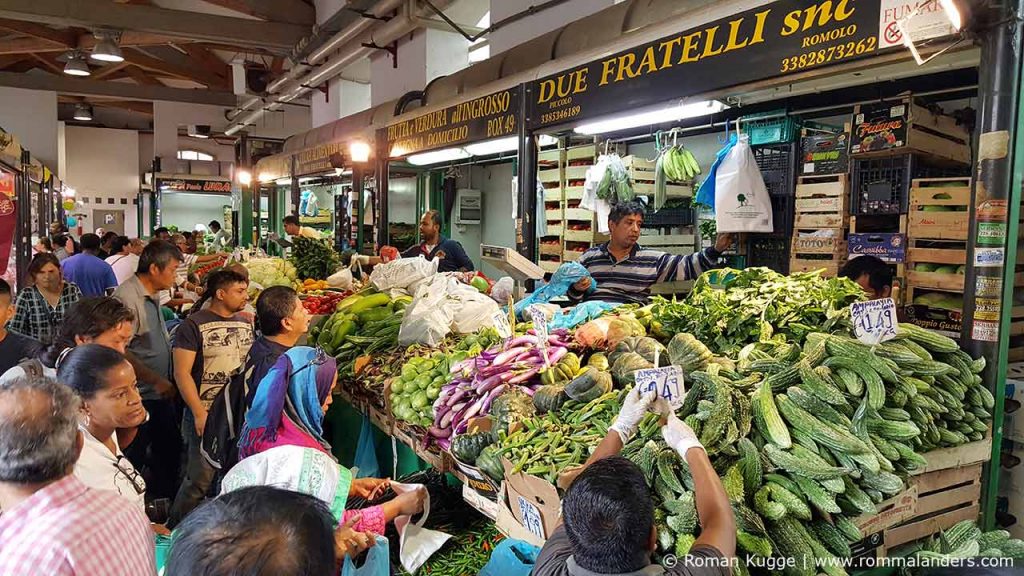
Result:
<svg viewBox="0 0 1024 576">
<path fill-rule="evenodd" d="M 72 474 L 83 445 L 78 412 L 71 388 L 53 379 L 0 383 L 0 574 L 156 574 L 142 509 Z"/>
</svg>

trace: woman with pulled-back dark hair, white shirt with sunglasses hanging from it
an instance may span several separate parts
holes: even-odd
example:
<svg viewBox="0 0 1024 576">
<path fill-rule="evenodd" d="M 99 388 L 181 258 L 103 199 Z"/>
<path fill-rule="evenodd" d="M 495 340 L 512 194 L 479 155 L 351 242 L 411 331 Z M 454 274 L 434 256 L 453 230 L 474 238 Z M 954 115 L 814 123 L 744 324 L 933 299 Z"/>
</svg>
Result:
<svg viewBox="0 0 1024 576">
<path fill-rule="evenodd" d="M 137 427 L 147 417 L 131 363 L 116 349 L 82 344 L 60 359 L 57 379 L 82 400 L 78 427 L 85 444 L 75 476 L 144 508 L 145 481 L 118 445 L 119 428 Z"/>
</svg>

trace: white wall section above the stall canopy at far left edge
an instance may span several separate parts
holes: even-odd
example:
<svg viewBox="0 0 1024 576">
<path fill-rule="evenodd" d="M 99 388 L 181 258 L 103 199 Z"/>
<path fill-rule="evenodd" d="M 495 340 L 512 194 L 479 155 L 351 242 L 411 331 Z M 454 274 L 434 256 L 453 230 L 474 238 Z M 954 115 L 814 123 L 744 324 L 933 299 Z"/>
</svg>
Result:
<svg viewBox="0 0 1024 576">
<path fill-rule="evenodd" d="M 63 178 L 57 145 L 56 92 L 0 88 L 0 127 L 17 136 L 33 158 Z"/>
</svg>

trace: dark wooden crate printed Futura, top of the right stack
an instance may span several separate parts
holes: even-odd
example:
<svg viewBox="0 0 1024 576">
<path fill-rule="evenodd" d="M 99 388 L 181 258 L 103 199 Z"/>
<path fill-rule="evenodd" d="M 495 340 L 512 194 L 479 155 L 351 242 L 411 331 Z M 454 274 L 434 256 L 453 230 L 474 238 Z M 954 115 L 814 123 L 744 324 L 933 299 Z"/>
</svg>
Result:
<svg viewBox="0 0 1024 576">
<path fill-rule="evenodd" d="M 864 115 L 863 122 L 858 118 L 861 114 Z M 855 126 L 850 141 L 850 155 L 853 157 L 892 156 L 916 151 L 959 164 L 971 163 L 971 134 L 967 129 L 958 125 L 953 117 L 936 114 L 910 97 L 902 101 L 858 105 L 854 107 L 853 115 Z M 872 115 L 874 122 L 869 121 Z M 872 124 L 898 125 L 879 132 L 870 130 Z M 864 141 L 865 136 L 876 139 L 886 137 L 889 132 L 893 134 L 892 140 Z"/>
</svg>

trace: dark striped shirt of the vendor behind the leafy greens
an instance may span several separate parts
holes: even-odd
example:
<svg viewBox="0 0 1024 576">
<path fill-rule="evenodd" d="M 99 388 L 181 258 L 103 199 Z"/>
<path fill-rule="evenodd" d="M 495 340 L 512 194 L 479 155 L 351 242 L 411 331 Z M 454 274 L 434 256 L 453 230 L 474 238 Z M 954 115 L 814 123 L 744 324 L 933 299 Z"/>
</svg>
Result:
<svg viewBox="0 0 1024 576">
<path fill-rule="evenodd" d="M 580 256 L 580 263 L 597 283 L 586 294 L 569 289 L 573 301 L 604 300 L 618 303 L 645 303 L 651 286 L 662 282 L 694 280 L 705 271 L 715 268 L 720 254 L 713 247 L 687 256 L 649 250 L 639 244 L 626 258 L 615 261 L 608 244 L 594 246 Z"/>
</svg>

